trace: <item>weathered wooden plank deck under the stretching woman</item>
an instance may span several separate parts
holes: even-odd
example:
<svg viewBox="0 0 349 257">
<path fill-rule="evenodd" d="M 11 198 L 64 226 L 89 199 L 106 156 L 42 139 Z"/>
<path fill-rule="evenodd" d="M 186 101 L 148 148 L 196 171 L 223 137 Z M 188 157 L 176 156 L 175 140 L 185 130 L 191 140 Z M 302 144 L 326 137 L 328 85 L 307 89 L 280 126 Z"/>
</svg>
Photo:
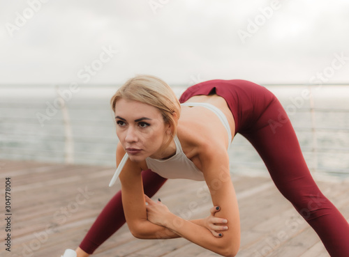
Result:
<svg viewBox="0 0 349 257">
<path fill-rule="evenodd" d="M 11 180 L 11 252 L 4 250 L 5 221 L 1 218 L 1 256 L 61 256 L 75 249 L 104 205 L 119 190 L 109 188 L 114 168 L 0 160 L 1 198 Z M 267 173 L 267 171 L 266 171 Z M 269 176 L 232 178 L 239 201 L 242 243 L 239 257 L 329 256 L 318 236 L 277 191 Z M 322 192 L 349 218 L 347 181 L 318 181 Z M 186 219 L 206 217 L 211 207 L 205 182 L 169 180 L 154 196 Z M 193 208 L 193 203 L 197 205 Z M 1 203 L 5 213 L 4 203 Z M 4 215 L 3 215 L 4 216 Z M 218 256 L 182 238 L 138 240 L 124 225 L 94 254 L 120 256 Z"/>
</svg>

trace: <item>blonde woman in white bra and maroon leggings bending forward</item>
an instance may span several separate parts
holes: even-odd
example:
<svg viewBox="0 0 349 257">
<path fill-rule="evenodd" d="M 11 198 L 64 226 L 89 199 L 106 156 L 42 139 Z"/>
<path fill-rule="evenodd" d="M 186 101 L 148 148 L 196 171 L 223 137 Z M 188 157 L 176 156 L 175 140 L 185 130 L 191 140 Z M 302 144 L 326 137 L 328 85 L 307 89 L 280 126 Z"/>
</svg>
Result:
<svg viewBox="0 0 349 257">
<path fill-rule="evenodd" d="M 329 254 L 349 256 L 348 222 L 315 185 L 288 116 L 266 88 L 216 79 L 191 86 L 178 101 L 161 79 L 138 76 L 117 91 L 111 104 L 120 141 L 122 196 L 118 192 L 98 216 L 76 250 L 78 257 L 92 254 L 125 218 L 135 237 L 184 237 L 235 256 L 239 210 L 227 148 L 237 133 L 252 143 L 276 187 L 318 233 Z M 152 201 L 149 197 L 167 178 L 205 180 L 214 205 L 211 215 L 186 221 L 161 201 Z"/>
</svg>

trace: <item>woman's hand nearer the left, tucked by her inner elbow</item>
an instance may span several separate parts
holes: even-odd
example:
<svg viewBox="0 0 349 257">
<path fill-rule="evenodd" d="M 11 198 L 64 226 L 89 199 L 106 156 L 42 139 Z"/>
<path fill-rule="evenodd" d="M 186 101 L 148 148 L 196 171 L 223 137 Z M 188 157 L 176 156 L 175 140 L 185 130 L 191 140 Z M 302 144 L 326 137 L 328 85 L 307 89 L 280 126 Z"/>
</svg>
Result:
<svg viewBox="0 0 349 257">
<path fill-rule="evenodd" d="M 166 217 L 171 213 L 170 210 L 168 210 L 168 207 L 161 203 L 161 201 L 155 202 L 151 200 L 151 198 L 145 194 L 144 199 L 145 202 L 148 203 L 148 205 L 146 205 L 147 219 L 156 225 L 165 226 L 167 221 Z"/>
</svg>

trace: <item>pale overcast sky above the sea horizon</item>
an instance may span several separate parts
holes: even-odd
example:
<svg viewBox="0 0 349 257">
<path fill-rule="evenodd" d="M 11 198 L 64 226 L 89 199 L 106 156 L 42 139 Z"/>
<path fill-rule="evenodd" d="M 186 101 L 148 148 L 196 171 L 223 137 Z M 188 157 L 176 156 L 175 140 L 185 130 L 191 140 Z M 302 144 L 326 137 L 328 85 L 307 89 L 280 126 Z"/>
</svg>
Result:
<svg viewBox="0 0 349 257">
<path fill-rule="evenodd" d="M 1 1 L 0 84 L 349 84 L 348 0 Z"/>
</svg>

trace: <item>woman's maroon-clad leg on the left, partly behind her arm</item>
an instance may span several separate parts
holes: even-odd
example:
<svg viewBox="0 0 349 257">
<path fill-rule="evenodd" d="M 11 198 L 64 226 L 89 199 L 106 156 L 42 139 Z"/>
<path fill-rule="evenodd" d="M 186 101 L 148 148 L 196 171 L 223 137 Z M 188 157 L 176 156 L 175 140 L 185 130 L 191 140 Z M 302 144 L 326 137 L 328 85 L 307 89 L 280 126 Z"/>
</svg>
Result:
<svg viewBox="0 0 349 257">
<path fill-rule="evenodd" d="M 150 169 L 142 171 L 144 194 L 151 197 L 160 189 L 160 187 L 167 180 Z M 94 251 L 114 234 L 123 224 L 125 224 L 124 209 L 121 202 L 121 190 L 114 195 L 114 197 L 105 205 L 101 214 L 97 217 L 94 224 L 89 229 L 84 240 L 80 244 L 80 249 L 77 249 L 77 255 L 93 254 Z M 82 251 L 81 251 L 82 250 Z"/>
</svg>

